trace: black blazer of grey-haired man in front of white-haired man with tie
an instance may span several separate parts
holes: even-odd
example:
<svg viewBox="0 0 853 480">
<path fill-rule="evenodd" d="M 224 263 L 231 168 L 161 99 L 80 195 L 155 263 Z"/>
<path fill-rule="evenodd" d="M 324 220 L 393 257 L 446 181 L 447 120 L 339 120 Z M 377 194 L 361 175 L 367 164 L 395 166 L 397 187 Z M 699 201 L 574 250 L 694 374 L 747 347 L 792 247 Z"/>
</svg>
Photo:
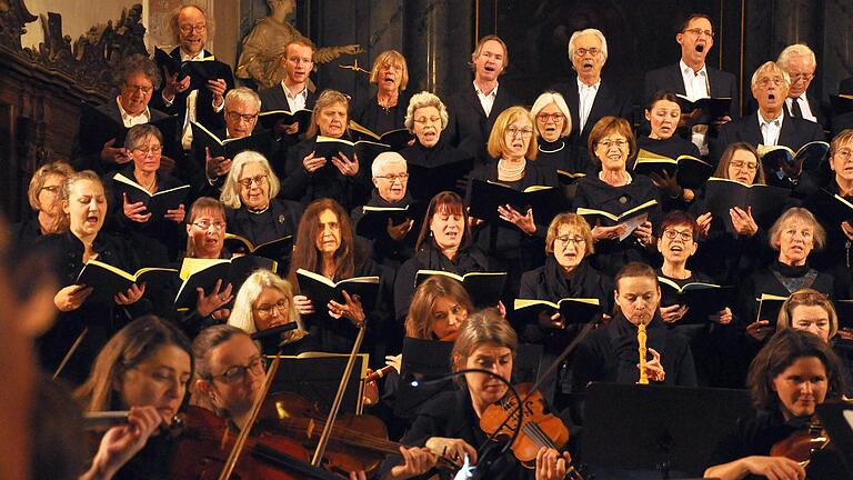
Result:
<svg viewBox="0 0 853 480">
<path fill-rule="evenodd" d="M 800 147 L 811 141 L 824 139 L 823 128 L 820 124 L 809 120 L 791 118 L 787 113 L 783 114 L 785 118 L 782 121 L 782 130 L 779 132 L 776 144 L 782 144 L 796 151 Z M 725 148 L 734 142 L 746 142 L 753 147 L 764 143 L 764 137 L 762 137 L 761 127 L 759 127 L 757 113 L 724 124 L 720 129 L 717 138 L 711 141 L 711 158 L 720 161 L 720 157 L 722 157 Z"/>
</svg>

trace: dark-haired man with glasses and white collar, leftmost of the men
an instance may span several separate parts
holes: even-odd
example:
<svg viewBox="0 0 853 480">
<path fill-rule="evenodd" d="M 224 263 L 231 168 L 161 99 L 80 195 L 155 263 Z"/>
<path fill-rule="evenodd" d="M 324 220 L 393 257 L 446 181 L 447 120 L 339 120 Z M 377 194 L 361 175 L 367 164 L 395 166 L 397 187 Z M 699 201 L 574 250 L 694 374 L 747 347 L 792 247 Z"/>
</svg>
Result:
<svg viewBox="0 0 853 480">
<path fill-rule="evenodd" d="M 119 89 L 116 100 L 94 108 L 96 111 L 84 109 L 80 116 L 78 138 L 71 154 L 71 164 L 76 170 L 112 173 L 131 161 L 121 141 L 103 138 L 106 119 L 112 120 L 118 131 L 169 117 L 149 107 L 154 89 L 160 87 L 160 72 L 148 57 L 133 54 L 126 58 L 114 78 Z"/>
</svg>

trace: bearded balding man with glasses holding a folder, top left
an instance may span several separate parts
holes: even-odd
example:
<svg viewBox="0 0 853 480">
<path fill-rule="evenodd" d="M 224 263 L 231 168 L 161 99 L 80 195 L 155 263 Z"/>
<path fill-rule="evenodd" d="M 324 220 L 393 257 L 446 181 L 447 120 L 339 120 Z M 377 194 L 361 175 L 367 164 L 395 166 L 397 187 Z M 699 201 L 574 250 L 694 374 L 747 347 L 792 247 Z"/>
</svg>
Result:
<svg viewBox="0 0 853 480">
<path fill-rule="evenodd" d="M 221 76 L 208 79 L 204 88 L 193 89 L 192 76 L 179 81 L 178 74 L 164 72 L 163 88 L 154 92 L 153 100 L 158 108 L 180 116 L 183 124 L 181 143 L 189 149 L 192 144 L 190 121 L 197 121 L 209 130 L 222 127 L 224 96 L 234 88 L 234 77 L 230 66 L 213 59 L 213 54 L 204 49 L 210 26 L 201 7 L 187 4 L 178 8 L 171 18 L 171 27 L 179 46 L 169 53 L 170 57 L 179 62 L 204 61 L 205 71 L 215 71 Z"/>
</svg>

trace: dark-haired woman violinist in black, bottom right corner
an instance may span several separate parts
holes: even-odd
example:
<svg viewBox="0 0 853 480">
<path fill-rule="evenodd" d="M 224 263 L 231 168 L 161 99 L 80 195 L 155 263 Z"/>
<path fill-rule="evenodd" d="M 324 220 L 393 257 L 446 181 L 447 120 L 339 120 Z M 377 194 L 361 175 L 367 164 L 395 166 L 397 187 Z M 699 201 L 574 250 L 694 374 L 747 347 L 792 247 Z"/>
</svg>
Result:
<svg viewBox="0 0 853 480">
<path fill-rule="evenodd" d="M 817 404 L 841 398 L 844 379 L 839 358 L 814 333 L 781 330 L 753 360 L 746 383 L 759 411 L 754 418 L 740 419 L 720 441 L 709 462 L 713 467 L 704 476 L 721 480 L 749 476 L 804 479 L 802 464 L 786 457 L 771 457 L 771 450 L 807 427 Z M 810 468 L 809 478 L 824 477 L 815 477 Z"/>
</svg>

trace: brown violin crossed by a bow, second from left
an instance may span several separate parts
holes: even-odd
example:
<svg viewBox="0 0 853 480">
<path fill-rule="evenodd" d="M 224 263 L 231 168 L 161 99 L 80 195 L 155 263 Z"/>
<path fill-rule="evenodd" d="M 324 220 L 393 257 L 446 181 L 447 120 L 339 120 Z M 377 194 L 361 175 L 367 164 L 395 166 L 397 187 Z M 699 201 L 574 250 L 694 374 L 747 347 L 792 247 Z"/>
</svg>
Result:
<svg viewBox="0 0 853 480">
<path fill-rule="evenodd" d="M 264 402 L 259 426 L 313 448 L 325 421 L 325 416 L 309 400 L 295 393 L 279 392 Z M 369 414 L 341 414 L 332 428 L 323 467 L 344 474 L 358 470 L 371 473 L 385 456 L 395 453 L 400 453 L 400 443 L 388 439 L 382 420 Z M 449 459 L 439 460 L 440 469 L 454 471 L 458 467 Z"/>
</svg>

